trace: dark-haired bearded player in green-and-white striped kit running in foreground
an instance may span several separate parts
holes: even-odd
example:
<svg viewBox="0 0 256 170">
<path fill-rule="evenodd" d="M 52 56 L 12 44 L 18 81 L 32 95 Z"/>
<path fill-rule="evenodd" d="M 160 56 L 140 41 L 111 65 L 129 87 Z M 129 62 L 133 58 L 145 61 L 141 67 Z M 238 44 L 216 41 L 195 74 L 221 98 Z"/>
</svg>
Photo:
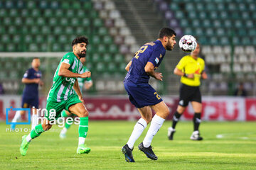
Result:
<svg viewBox="0 0 256 170">
<path fill-rule="evenodd" d="M 89 113 L 83 103 L 77 80 L 78 77 L 86 78 L 91 75 L 90 72 L 79 74 L 82 69 L 80 58 L 86 56 L 88 43 L 88 39 L 84 36 L 75 38 L 72 42 L 73 52 L 68 52 L 60 60 L 60 64 L 53 77 L 53 86 L 47 97 L 46 110 L 48 114 L 45 115 L 46 119 L 43 120 L 42 124 L 36 125 L 28 135 L 22 137 L 20 147 L 21 155 L 26 155 L 31 140 L 52 127 L 55 120 L 60 117 L 63 109 L 78 115 L 80 118 L 77 154 L 87 154 L 90 152 L 90 148 L 85 145 Z M 76 94 L 73 92 L 73 89 Z"/>
</svg>

